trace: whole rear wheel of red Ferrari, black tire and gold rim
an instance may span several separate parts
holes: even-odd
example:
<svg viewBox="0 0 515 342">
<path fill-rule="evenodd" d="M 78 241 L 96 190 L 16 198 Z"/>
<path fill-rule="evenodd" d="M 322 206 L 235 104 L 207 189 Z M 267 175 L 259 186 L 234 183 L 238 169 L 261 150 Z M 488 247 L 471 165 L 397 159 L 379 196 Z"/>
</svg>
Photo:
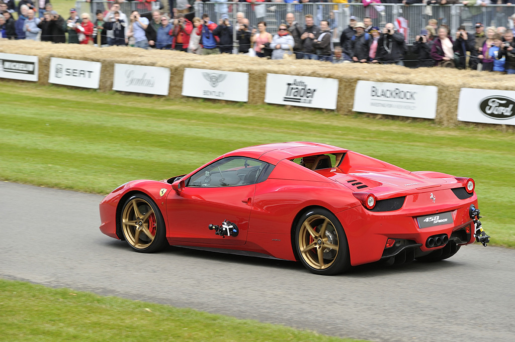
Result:
<svg viewBox="0 0 515 342">
<path fill-rule="evenodd" d="M 350 267 L 344 228 L 327 209 L 311 209 L 300 217 L 295 244 L 300 261 L 311 273 L 332 276 Z"/>
</svg>

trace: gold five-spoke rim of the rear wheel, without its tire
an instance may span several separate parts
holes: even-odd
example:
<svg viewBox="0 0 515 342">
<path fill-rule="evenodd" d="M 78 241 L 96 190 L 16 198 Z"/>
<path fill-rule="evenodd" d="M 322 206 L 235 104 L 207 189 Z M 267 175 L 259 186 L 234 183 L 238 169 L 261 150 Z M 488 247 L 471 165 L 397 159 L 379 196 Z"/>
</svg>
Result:
<svg viewBox="0 0 515 342">
<path fill-rule="evenodd" d="M 304 261 L 315 269 L 326 269 L 338 256 L 338 233 L 323 215 L 308 217 L 299 231 L 299 249 Z"/>
</svg>

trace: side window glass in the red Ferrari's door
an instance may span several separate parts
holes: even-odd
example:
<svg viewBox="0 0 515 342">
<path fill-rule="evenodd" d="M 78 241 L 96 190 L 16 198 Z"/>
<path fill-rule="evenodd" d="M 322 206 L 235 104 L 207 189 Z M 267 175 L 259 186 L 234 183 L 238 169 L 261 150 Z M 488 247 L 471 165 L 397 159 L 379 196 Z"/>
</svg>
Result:
<svg viewBox="0 0 515 342">
<path fill-rule="evenodd" d="M 225 187 L 255 184 L 268 164 L 245 157 L 215 161 L 190 177 L 188 187 Z"/>
</svg>

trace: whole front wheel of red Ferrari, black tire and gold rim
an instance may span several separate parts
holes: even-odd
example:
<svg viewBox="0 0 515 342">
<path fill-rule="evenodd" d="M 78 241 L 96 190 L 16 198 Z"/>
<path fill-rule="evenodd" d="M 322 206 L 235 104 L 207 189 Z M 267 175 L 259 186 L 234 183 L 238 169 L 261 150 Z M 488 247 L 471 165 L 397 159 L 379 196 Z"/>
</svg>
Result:
<svg viewBox="0 0 515 342">
<path fill-rule="evenodd" d="M 125 201 L 120 224 L 125 240 L 135 251 L 154 253 L 168 244 L 163 215 L 156 203 L 143 193 Z"/>
</svg>

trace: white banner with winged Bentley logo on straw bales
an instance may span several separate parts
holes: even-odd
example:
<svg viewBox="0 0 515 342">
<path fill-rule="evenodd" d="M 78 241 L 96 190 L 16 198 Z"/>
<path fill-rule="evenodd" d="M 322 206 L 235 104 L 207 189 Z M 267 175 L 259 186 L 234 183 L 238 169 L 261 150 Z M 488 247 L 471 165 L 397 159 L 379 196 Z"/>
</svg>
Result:
<svg viewBox="0 0 515 342">
<path fill-rule="evenodd" d="M 249 74 L 184 68 L 182 95 L 248 102 Z"/>
</svg>

